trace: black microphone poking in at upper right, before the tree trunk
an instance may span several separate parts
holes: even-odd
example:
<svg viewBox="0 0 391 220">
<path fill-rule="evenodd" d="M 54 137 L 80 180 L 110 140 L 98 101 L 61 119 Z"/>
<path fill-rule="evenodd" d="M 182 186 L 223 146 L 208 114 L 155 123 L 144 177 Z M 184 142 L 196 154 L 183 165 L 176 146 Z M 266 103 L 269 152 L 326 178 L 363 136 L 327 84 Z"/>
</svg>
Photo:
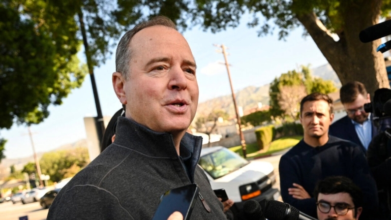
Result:
<svg viewBox="0 0 391 220">
<path fill-rule="evenodd" d="M 379 23 L 362 30 L 359 34 L 360 40 L 367 43 L 391 34 L 391 20 Z"/>
</svg>

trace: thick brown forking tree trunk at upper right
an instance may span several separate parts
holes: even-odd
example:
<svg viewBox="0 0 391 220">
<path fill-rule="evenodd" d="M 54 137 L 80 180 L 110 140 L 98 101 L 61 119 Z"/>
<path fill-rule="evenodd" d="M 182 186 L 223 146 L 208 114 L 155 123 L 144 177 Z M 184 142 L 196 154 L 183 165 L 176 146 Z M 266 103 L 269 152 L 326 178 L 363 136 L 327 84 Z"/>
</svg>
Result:
<svg viewBox="0 0 391 220">
<path fill-rule="evenodd" d="M 362 43 L 359 33 L 378 23 L 382 0 L 340 2 L 338 10 L 344 23 L 338 31 L 338 41 L 331 37 L 315 13 L 297 15 L 297 18 L 331 64 L 342 85 L 360 81 L 373 97 L 375 90 L 390 88 L 383 54 L 376 52 L 381 40 Z"/>
</svg>

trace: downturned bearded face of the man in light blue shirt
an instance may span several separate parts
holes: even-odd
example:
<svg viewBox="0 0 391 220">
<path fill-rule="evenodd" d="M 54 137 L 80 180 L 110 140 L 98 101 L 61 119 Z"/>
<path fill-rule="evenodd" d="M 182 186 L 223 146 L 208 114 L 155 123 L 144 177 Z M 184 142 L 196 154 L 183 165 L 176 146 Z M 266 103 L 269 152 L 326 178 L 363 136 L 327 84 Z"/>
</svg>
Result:
<svg viewBox="0 0 391 220">
<path fill-rule="evenodd" d="M 348 117 L 352 119 L 353 121 L 362 124 L 367 118 L 369 113 L 366 113 L 364 111 L 364 104 L 370 102 L 369 94 L 367 94 L 367 97 L 362 96 L 362 94 L 359 94 L 354 100 L 354 102 L 351 103 L 343 103 L 343 106 L 346 109 L 346 112 L 348 113 Z"/>
</svg>

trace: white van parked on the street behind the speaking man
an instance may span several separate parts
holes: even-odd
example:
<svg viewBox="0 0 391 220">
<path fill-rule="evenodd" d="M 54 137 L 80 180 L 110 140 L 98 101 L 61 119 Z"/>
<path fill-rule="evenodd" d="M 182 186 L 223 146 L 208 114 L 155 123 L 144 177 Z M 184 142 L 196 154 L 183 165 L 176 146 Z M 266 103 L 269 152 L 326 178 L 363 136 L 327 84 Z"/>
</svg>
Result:
<svg viewBox="0 0 391 220">
<path fill-rule="evenodd" d="M 212 189 L 225 189 L 234 200 L 234 212 L 240 212 L 249 199 L 277 200 L 278 189 L 270 162 L 248 161 L 225 147 L 203 148 L 199 165 L 204 169 Z"/>
</svg>

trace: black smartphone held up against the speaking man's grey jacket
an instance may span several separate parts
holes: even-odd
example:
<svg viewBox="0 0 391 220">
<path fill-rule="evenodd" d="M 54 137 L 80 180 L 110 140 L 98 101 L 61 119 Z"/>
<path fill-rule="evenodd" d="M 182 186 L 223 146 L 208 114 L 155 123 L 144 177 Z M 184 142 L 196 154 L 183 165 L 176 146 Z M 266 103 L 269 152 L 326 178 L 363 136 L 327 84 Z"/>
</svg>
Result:
<svg viewBox="0 0 391 220">
<path fill-rule="evenodd" d="M 199 191 L 197 184 L 166 191 L 160 198 L 152 220 L 167 220 L 175 211 L 182 214 L 183 220 L 189 220 Z"/>
</svg>

